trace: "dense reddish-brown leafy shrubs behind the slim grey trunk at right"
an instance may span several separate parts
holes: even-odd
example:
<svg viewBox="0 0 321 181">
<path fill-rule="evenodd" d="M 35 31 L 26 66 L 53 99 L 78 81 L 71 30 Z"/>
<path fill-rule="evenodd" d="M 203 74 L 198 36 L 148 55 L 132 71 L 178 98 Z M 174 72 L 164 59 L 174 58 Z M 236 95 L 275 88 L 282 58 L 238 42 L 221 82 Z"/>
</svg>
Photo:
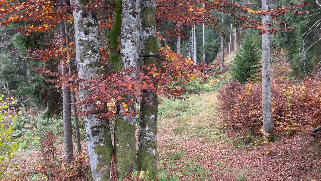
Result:
<svg viewBox="0 0 321 181">
<path fill-rule="evenodd" d="M 231 128 L 262 135 L 262 82 L 230 80 L 218 94 L 220 110 Z M 277 132 L 294 135 L 311 130 L 321 119 L 321 79 L 272 80 L 272 115 Z"/>
</svg>

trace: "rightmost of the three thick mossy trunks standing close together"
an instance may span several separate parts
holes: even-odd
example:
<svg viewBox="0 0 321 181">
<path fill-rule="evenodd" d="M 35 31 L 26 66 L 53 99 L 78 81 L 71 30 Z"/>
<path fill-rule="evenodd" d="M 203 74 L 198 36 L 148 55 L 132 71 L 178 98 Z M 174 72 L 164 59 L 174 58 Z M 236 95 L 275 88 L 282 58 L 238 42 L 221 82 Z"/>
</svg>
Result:
<svg viewBox="0 0 321 181">
<path fill-rule="evenodd" d="M 141 9 L 141 55 L 156 55 L 158 52 L 156 0 L 141 0 Z M 155 63 L 157 59 L 146 57 L 142 61 L 144 65 L 149 65 Z M 148 70 L 146 70 L 145 74 L 148 74 Z M 151 90 L 142 90 L 142 93 L 143 100 L 140 102 L 137 164 L 139 170 L 146 170 L 151 178 L 157 179 L 157 94 Z"/>
</svg>

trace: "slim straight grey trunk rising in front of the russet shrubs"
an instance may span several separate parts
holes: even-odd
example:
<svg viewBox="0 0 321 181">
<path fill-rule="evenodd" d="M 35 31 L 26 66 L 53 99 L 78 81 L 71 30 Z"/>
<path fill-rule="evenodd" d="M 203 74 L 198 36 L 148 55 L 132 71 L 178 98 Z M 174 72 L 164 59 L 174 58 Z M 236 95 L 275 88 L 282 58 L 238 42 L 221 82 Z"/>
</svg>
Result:
<svg viewBox="0 0 321 181">
<path fill-rule="evenodd" d="M 262 9 L 270 10 L 269 0 L 262 0 Z M 269 26 L 271 17 L 262 15 L 264 29 Z M 263 131 L 268 134 L 273 133 L 272 110 L 271 110 L 271 78 L 270 78 L 270 34 L 262 34 L 262 112 L 263 112 Z"/>
</svg>

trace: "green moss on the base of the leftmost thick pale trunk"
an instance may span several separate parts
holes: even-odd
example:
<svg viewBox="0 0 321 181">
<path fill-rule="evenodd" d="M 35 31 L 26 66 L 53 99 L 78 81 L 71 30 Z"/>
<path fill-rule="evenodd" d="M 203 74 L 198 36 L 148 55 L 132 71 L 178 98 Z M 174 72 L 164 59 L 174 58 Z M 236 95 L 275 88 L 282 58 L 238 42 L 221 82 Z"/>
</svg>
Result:
<svg viewBox="0 0 321 181">
<path fill-rule="evenodd" d="M 106 127 L 105 125 L 100 126 Z M 101 174 L 102 181 L 107 181 L 110 176 L 110 163 L 113 151 L 113 145 L 108 129 L 104 132 L 104 138 L 105 142 L 103 143 L 103 145 L 96 145 L 94 148 L 94 152 L 98 155 L 97 170 Z"/>
</svg>

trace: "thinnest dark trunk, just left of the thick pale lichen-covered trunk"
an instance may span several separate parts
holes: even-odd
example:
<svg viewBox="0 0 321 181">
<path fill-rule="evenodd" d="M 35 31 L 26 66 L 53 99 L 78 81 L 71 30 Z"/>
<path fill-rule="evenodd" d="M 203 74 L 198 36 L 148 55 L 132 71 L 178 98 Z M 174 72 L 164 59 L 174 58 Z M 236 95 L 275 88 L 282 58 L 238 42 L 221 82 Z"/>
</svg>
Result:
<svg viewBox="0 0 321 181">
<path fill-rule="evenodd" d="M 67 4 L 64 0 L 64 4 Z M 66 45 L 67 48 L 70 49 L 69 47 L 69 23 L 65 21 L 65 33 L 66 33 Z M 67 52 L 67 55 L 70 55 L 70 52 Z M 73 61 L 68 62 L 69 66 L 69 72 L 73 73 L 74 68 L 73 68 Z M 74 89 L 75 87 L 73 87 Z M 75 137 L 76 137 L 76 147 L 77 147 L 77 153 L 81 153 L 81 143 L 80 143 L 80 131 L 79 131 L 79 122 L 78 122 L 78 116 L 76 115 L 77 113 L 77 106 L 76 106 L 76 93 L 75 91 L 70 91 L 70 97 L 71 97 L 71 103 L 72 103 L 72 109 L 74 113 L 74 127 L 75 127 Z"/>
</svg>

